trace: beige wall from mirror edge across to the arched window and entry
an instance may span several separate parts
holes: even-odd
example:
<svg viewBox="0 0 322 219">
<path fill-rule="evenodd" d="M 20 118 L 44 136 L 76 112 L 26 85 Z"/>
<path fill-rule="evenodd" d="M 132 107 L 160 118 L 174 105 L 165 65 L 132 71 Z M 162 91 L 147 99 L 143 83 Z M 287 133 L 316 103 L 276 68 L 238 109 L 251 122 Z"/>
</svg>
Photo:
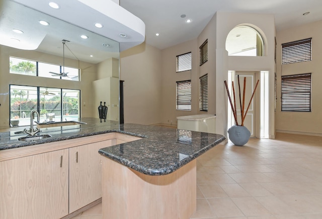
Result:
<svg viewBox="0 0 322 219">
<path fill-rule="evenodd" d="M 225 50 L 226 37 L 231 29 L 241 24 L 253 25 L 263 34 L 266 41 L 264 57 L 228 57 Z M 274 135 L 274 36 L 273 15 L 220 12 L 211 19 L 197 39 L 164 50 L 158 50 L 151 46 L 149 47 L 153 49 L 146 49 L 147 45 L 141 45 L 130 49 L 128 52 L 130 55 L 124 55 L 127 51 L 122 52 L 120 61 L 121 80 L 125 80 L 125 86 L 129 86 L 126 84 L 126 81 L 128 81 L 126 78 L 129 78 L 131 82 L 131 89 L 124 88 L 125 122 L 176 125 L 177 116 L 205 113 L 199 111 L 199 77 L 208 74 L 208 113 L 217 115 L 216 130 L 218 130 L 218 133 L 226 135 L 227 101 L 223 81 L 227 80 L 228 70 L 269 70 L 270 75 L 273 76 L 273 86 L 270 89 L 270 103 L 272 103 L 273 107 L 270 109 L 270 125 L 272 126 L 270 132 L 271 136 Z M 208 39 L 208 61 L 199 66 L 199 46 L 206 39 Z M 190 51 L 192 52 L 192 70 L 176 73 L 176 56 Z M 147 62 L 146 60 L 153 60 L 154 67 L 158 66 L 158 70 L 151 71 L 150 69 L 153 68 L 153 65 L 147 66 L 147 63 L 150 64 L 152 61 Z M 141 68 L 138 68 L 138 66 L 141 66 Z M 133 70 L 137 72 L 134 77 L 130 73 Z M 138 76 L 144 75 L 144 72 L 159 74 L 160 85 L 153 87 L 153 99 L 158 102 L 159 113 L 152 112 L 152 108 L 147 109 L 140 104 L 146 102 L 146 106 L 148 106 L 148 100 L 151 96 L 151 91 L 144 88 L 149 78 L 145 77 L 146 81 L 144 83 L 138 80 Z M 154 78 L 152 77 L 151 79 Z M 190 79 L 192 80 L 192 110 L 177 111 L 176 81 Z M 150 82 L 154 84 L 154 81 Z M 147 95 L 147 100 L 137 102 L 136 98 L 142 95 Z M 145 115 L 149 115 L 149 118 Z"/>
</svg>

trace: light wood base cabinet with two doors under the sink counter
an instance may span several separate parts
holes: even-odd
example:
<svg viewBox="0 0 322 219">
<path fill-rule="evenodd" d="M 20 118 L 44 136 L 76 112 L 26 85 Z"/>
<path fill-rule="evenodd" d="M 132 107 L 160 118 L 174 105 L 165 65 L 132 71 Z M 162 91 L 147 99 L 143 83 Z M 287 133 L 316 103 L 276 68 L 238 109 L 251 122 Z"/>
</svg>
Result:
<svg viewBox="0 0 322 219">
<path fill-rule="evenodd" d="M 106 133 L 0 151 L 0 218 L 70 218 L 98 203 L 99 149 L 137 139 Z"/>
</svg>

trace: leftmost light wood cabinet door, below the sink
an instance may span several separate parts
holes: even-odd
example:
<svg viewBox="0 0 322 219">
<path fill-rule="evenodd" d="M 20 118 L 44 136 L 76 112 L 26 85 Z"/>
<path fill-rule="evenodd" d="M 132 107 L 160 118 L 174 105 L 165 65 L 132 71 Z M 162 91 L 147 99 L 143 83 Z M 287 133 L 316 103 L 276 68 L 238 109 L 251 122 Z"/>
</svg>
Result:
<svg viewBox="0 0 322 219">
<path fill-rule="evenodd" d="M 68 149 L 0 162 L 0 218 L 68 214 Z"/>
</svg>

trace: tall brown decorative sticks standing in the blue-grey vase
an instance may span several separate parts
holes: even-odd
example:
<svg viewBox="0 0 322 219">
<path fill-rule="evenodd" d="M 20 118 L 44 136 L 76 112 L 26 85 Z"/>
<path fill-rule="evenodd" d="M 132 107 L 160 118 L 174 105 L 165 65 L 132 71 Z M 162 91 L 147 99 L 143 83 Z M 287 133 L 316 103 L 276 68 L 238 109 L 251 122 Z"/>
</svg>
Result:
<svg viewBox="0 0 322 219">
<path fill-rule="evenodd" d="M 252 103 L 252 100 L 253 100 L 253 97 L 255 95 L 255 92 L 256 92 L 256 89 L 257 89 L 257 86 L 258 86 L 258 83 L 260 80 L 257 80 L 257 83 L 256 83 L 256 86 L 255 86 L 255 89 L 253 91 L 253 95 L 250 99 L 250 102 L 248 104 L 248 107 L 246 109 L 246 112 L 244 113 L 244 110 L 245 110 L 245 93 L 246 93 L 246 77 L 244 77 L 244 91 L 243 91 L 243 104 L 241 104 L 241 97 L 240 97 L 240 83 L 239 83 L 239 75 L 237 76 L 238 78 L 238 89 L 239 89 L 239 104 L 240 104 L 240 115 L 241 115 L 241 126 L 244 126 L 244 121 L 245 121 L 245 118 L 246 118 L 246 115 L 247 115 L 247 112 L 251 106 L 251 103 Z M 236 108 L 236 97 L 235 97 L 235 88 L 234 88 L 234 84 L 233 82 L 232 83 L 232 95 L 233 95 L 233 102 L 234 104 L 232 104 L 232 101 L 231 101 L 231 98 L 230 98 L 230 93 L 229 93 L 229 89 L 228 89 L 228 85 L 227 85 L 227 82 L 224 81 L 225 83 L 225 87 L 226 87 L 226 91 L 227 91 L 227 94 L 228 94 L 228 99 L 229 99 L 229 102 L 230 102 L 230 106 L 231 106 L 231 110 L 232 110 L 232 114 L 233 114 L 233 117 L 235 119 L 235 123 L 236 125 L 238 125 L 238 121 L 237 121 L 237 108 Z"/>
</svg>

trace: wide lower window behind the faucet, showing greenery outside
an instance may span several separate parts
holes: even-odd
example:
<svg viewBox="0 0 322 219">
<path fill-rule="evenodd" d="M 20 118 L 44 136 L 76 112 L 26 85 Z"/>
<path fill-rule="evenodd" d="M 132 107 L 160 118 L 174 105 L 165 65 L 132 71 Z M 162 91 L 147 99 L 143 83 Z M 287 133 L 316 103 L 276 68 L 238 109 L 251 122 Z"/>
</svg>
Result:
<svg viewBox="0 0 322 219">
<path fill-rule="evenodd" d="M 39 110 L 41 122 L 77 120 L 79 97 L 79 90 L 10 85 L 10 122 L 30 125 L 32 110 Z"/>
</svg>

